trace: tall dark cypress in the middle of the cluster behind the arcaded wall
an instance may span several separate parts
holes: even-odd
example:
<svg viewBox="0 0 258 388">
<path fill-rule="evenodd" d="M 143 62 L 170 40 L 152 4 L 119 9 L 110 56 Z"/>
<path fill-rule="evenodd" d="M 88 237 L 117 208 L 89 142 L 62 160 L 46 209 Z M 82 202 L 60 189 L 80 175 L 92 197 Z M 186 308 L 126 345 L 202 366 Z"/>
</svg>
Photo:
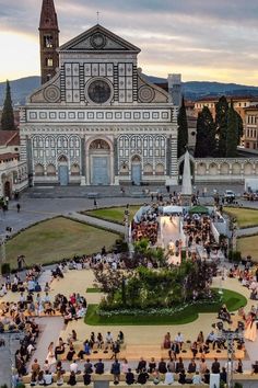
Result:
<svg viewBox="0 0 258 388">
<path fill-rule="evenodd" d="M 215 128 L 219 137 L 218 156 L 221 158 L 226 156 L 227 111 L 228 103 L 226 98 L 222 95 L 215 104 Z"/>
</svg>

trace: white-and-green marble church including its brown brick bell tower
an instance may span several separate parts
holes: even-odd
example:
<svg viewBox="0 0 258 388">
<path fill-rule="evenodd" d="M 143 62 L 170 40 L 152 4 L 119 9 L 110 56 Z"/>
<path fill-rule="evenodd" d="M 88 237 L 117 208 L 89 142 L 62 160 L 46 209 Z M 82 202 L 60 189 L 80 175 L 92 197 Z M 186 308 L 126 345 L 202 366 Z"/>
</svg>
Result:
<svg viewBox="0 0 258 388">
<path fill-rule="evenodd" d="M 39 23 L 42 85 L 21 110 L 31 184 L 177 184 L 180 75 L 168 92 L 138 68 L 140 48 L 104 26 L 59 46 L 54 0 Z"/>
</svg>

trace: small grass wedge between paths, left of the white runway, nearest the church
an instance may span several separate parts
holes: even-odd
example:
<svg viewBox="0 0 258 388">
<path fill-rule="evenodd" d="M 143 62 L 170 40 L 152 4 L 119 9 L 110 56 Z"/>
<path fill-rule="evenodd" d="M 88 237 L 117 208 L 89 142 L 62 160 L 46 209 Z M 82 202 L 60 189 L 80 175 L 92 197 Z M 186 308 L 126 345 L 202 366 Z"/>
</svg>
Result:
<svg viewBox="0 0 258 388">
<path fill-rule="evenodd" d="M 129 220 L 131 221 L 134 214 L 139 210 L 141 206 L 140 205 L 131 205 L 129 206 Z M 124 222 L 124 217 L 125 217 L 125 209 L 126 206 L 121 207 L 109 207 L 105 209 L 95 209 L 95 210 L 89 210 L 84 212 L 84 214 L 92 216 L 92 217 L 98 217 L 103 218 L 109 221 L 116 221 L 118 224 Z"/>
</svg>

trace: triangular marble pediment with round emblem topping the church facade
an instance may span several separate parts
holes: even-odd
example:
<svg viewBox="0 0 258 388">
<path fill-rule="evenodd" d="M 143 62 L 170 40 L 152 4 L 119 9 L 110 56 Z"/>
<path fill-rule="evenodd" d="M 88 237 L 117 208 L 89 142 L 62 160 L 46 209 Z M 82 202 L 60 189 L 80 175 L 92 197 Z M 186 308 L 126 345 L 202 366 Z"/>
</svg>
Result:
<svg viewBox="0 0 258 388">
<path fill-rule="evenodd" d="M 130 52 L 140 53 L 140 48 L 120 36 L 96 24 L 59 48 L 60 52 Z"/>
</svg>

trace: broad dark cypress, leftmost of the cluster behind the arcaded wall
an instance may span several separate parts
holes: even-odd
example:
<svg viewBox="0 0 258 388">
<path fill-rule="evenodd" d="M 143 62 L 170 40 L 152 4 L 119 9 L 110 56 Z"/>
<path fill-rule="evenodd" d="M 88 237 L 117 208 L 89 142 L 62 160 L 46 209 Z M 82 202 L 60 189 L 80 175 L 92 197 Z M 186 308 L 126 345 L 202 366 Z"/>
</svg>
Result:
<svg viewBox="0 0 258 388">
<path fill-rule="evenodd" d="M 198 114 L 196 158 L 207 158 L 214 155 L 215 150 L 215 124 L 208 106 Z"/>
</svg>

